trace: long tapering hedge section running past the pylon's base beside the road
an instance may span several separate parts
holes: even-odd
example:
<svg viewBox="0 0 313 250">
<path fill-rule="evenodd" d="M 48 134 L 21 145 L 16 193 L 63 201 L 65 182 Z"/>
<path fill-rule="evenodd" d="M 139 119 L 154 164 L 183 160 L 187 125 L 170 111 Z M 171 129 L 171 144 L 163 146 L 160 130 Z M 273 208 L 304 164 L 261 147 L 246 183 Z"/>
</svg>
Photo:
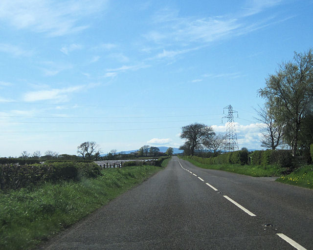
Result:
<svg viewBox="0 0 313 250">
<path fill-rule="evenodd" d="M 234 152 L 228 152 L 220 154 L 216 157 L 201 158 L 198 156 L 188 156 L 188 158 L 193 159 L 197 162 L 203 164 L 248 164 L 248 152 L 245 150 L 239 150 Z"/>
</svg>

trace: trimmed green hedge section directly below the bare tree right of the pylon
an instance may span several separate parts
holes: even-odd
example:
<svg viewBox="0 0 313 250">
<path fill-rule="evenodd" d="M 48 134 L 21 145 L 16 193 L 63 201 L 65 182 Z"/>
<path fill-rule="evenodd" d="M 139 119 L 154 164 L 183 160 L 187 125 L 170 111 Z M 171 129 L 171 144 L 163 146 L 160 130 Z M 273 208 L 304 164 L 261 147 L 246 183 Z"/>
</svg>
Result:
<svg viewBox="0 0 313 250">
<path fill-rule="evenodd" d="M 277 165 L 279 167 L 292 167 L 291 150 L 255 150 L 251 156 L 253 165 Z"/>
</svg>

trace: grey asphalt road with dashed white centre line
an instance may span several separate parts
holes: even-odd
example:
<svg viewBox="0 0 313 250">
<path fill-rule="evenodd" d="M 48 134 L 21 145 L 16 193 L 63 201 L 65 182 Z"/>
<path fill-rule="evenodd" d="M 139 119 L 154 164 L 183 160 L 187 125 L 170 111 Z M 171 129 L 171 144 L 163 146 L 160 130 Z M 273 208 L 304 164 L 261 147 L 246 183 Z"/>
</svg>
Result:
<svg viewBox="0 0 313 250">
<path fill-rule="evenodd" d="M 273 180 L 173 157 L 41 249 L 313 249 L 313 190 Z"/>
</svg>

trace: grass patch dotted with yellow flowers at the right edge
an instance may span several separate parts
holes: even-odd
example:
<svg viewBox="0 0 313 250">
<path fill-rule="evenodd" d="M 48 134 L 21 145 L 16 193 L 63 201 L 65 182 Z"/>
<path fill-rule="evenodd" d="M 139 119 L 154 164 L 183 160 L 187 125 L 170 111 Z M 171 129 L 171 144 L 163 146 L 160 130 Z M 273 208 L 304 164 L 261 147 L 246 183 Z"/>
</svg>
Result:
<svg viewBox="0 0 313 250">
<path fill-rule="evenodd" d="M 313 166 L 300 167 L 291 174 L 278 178 L 276 181 L 313 189 Z"/>
</svg>

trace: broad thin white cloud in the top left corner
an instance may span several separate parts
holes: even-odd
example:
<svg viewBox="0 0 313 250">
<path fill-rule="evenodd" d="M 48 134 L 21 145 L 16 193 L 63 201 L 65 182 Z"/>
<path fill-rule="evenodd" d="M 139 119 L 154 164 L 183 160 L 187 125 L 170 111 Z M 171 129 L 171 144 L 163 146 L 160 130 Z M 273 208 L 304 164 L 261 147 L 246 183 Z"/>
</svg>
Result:
<svg viewBox="0 0 313 250">
<path fill-rule="evenodd" d="M 0 19 L 18 29 L 63 36 L 88 28 L 78 22 L 103 10 L 107 0 L 1 0 Z"/>
</svg>

